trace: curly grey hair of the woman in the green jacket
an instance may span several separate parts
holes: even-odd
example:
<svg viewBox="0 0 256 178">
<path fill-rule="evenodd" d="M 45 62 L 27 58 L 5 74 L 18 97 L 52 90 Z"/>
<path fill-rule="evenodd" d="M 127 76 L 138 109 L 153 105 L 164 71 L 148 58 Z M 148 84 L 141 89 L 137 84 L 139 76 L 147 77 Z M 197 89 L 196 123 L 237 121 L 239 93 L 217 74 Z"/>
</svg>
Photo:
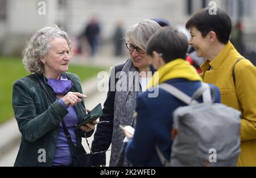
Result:
<svg viewBox="0 0 256 178">
<path fill-rule="evenodd" d="M 69 54 L 73 53 L 73 46 L 67 32 L 57 25 L 44 27 L 32 35 L 23 50 L 22 62 L 28 71 L 36 74 L 44 73 L 44 65 L 40 60 L 48 53 L 49 41 L 54 37 L 63 37 L 68 43 Z"/>
</svg>

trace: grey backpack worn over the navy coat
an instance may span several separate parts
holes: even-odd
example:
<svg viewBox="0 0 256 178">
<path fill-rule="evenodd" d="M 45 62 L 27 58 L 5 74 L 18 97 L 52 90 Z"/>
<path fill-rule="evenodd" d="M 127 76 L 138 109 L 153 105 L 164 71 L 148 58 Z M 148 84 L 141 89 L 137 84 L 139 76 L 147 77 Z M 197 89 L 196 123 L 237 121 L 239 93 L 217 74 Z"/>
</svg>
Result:
<svg viewBox="0 0 256 178">
<path fill-rule="evenodd" d="M 203 82 L 192 97 L 167 83 L 159 88 L 188 104 L 173 112 L 177 135 L 172 143 L 171 161 L 155 146 L 163 166 L 236 166 L 240 154 L 241 112 L 213 103 L 215 90 Z M 201 96 L 203 103 L 196 101 Z"/>
</svg>

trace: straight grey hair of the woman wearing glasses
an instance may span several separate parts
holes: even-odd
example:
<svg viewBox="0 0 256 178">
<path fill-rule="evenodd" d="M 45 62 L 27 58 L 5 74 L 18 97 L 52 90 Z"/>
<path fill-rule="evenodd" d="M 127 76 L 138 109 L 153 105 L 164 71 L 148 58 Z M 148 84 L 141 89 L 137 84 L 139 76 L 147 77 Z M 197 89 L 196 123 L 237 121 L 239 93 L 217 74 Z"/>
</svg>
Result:
<svg viewBox="0 0 256 178">
<path fill-rule="evenodd" d="M 131 41 L 142 50 L 146 51 L 146 44 L 148 39 L 159 29 L 161 26 L 154 20 L 146 19 L 131 26 L 125 33 L 125 40 Z"/>
</svg>

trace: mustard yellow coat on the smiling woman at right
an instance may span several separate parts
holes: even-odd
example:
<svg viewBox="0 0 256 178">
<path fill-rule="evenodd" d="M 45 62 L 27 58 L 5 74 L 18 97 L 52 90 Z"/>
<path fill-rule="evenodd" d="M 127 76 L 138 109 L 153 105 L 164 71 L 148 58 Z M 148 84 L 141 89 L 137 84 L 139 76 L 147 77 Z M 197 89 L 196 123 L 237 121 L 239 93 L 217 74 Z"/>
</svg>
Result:
<svg viewBox="0 0 256 178">
<path fill-rule="evenodd" d="M 243 60 L 234 68 L 235 87 L 232 69 L 239 58 Z M 200 76 L 204 82 L 220 89 L 221 102 L 242 112 L 241 154 L 237 166 L 256 166 L 256 67 L 242 57 L 229 41 L 216 58 L 211 62 L 206 60 L 201 69 L 203 73 Z"/>
</svg>

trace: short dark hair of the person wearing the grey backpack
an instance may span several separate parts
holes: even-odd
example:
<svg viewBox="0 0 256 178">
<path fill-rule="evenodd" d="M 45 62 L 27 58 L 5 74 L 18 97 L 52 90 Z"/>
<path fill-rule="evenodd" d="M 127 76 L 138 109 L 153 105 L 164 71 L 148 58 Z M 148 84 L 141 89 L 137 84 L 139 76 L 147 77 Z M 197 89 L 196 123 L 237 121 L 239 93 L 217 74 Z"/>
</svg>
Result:
<svg viewBox="0 0 256 178">
<path fill-rule="evenodd" d="M 163 27 L 148 40 L 146 54 L 152 52 L 163 54 L 164 62 L 168 63 L 177 58 L 185 58 L 188 50 L 187 37 L 172 27 Z"/>
</svg>

